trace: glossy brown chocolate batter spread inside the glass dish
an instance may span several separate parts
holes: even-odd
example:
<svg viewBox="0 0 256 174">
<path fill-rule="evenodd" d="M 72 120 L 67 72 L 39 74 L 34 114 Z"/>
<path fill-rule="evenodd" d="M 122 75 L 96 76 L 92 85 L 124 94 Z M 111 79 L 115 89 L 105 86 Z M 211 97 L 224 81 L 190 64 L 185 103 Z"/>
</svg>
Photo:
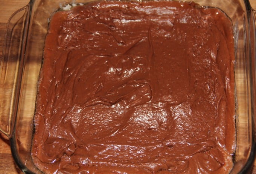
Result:
<svg viewBox="0 0 256 174">
<path fill-rule="evenodd" d="M 46 173 L 228 173 L 234 43 L 216 8 L 97 1 L 46 36 L 32 158 Z"/>
</svg>

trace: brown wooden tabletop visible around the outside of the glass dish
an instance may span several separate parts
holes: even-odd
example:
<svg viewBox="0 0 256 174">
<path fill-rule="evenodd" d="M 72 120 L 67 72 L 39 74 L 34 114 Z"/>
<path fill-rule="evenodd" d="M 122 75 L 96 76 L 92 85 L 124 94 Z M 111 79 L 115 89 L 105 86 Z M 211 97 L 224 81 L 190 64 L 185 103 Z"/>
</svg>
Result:
<svg viewBox="0 0 256 174">
<path fill-rule="evenodd" d="M 27 5 L 29 0 L 0 0 L 0 57 L 2 56 L 3 40 L 5 37 L 6 23 L 17 9 Z M 256 9 L 256 0 L 250 0 L 251 5 Z M 21 174 L 12 159 L 11 149 L 8 138 L 0 133 L 0 174 Z M 249 174 L 256 174 L 256 161 Z"/>
</svg>

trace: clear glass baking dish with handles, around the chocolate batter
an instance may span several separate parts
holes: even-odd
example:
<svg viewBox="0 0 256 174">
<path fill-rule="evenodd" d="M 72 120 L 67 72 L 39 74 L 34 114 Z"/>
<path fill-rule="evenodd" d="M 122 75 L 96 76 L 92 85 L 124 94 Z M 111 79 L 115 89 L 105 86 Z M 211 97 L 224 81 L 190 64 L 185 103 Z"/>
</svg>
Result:
<svg viewBox="0 0 256 174">
<path fill-rule="evenodd" d="M 8 21 L 0 63 L 0 130 L 24 173 L 41 173 L 30 156 L 37 81 L 49 18 L 59 7 L 91 0 L 31 0 Z M 188 0 L 190 1 L 190 0 Z M 235 39 L 236 151 L 230 173 L 246 173 L 256 148 L 255 11 L 248 0 L 194 0 L 232 20 Z"/>
</svg>

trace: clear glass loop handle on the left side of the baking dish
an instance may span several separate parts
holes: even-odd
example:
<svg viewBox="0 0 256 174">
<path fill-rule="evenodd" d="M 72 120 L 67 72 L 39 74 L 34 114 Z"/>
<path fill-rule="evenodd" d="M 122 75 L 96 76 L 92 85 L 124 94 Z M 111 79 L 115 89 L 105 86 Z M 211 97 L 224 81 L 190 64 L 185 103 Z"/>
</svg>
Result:
<svg viewBox="0 0 256 174">
<path fill-rule="evenodd" d="M 19 84 L 23 71 L 24 50 L 29 21 L 29 7 L 17 10 L 9 18 L 0 60 L 0 130 L 8 137 L 12 134 Z"/>
</svg>

